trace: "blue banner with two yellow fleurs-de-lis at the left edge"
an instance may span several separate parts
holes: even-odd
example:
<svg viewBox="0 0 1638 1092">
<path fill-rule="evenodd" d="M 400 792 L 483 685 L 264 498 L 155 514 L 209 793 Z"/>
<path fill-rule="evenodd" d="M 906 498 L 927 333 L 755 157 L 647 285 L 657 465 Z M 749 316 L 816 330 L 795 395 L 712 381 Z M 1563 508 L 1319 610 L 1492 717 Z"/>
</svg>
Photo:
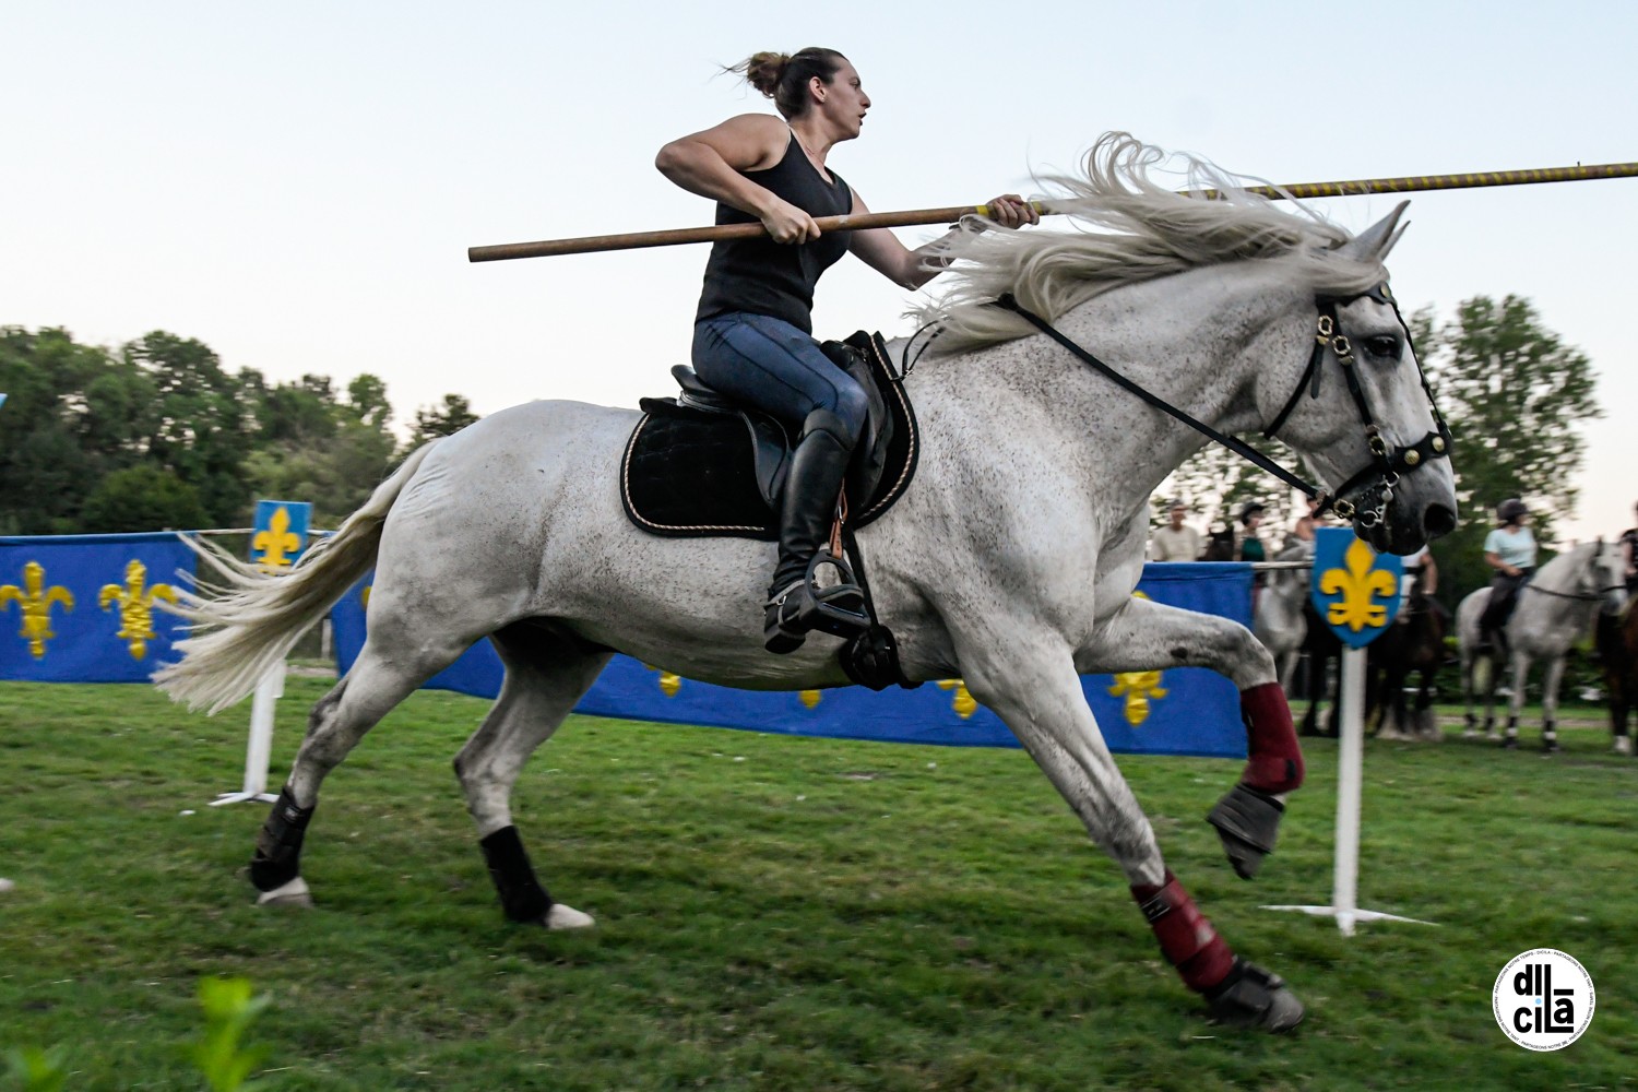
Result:
<svg viewBox="0 0 1638 1092">
<path fill-rule="evenodd" d="M 0 537 L 0 679 L 146 683 L 174 660 L 193 552 L 172 532 Z"/>
</svg>

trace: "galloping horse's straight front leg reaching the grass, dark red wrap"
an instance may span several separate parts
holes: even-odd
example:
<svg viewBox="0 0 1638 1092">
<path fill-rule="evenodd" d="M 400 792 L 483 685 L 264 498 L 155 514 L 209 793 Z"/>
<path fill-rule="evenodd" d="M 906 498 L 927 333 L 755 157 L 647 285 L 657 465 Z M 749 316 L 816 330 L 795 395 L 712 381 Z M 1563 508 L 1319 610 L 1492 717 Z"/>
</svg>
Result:
<svg viewBox="0 0 1638 1092">
<path fill-rule="evenodd" d="M 1214 1018 L 1269 1031 L 1296 1027 L 1302 1002 L 1278 976 L 1233 954 L 1161 860 L 1086 706 L 1065 640 L 1020 625 L 958 637 L 957 655 L 968 691 L 1012 729 L 1093 842 L 1120 864 L 1161 953 L 1184 986 L 1206 997 Z"/>
</svg>

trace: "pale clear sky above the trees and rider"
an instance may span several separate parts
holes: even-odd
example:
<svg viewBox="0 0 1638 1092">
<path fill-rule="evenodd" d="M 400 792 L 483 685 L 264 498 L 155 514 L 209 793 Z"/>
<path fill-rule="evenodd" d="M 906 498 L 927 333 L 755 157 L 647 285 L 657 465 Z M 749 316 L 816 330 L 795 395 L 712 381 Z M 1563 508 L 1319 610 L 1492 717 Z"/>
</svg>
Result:
<svg viewBox="0 0 1638 1092">
<path fill-rule="evenodd" d="M 1638 160 L 1625 0 L 5 0 L 0 41 L 0 324 L 164 329 L 272 380 L 370 372 L 398 421 L 446 393 L 672 391 L 703 247 L 467 247 L 711 223 L 654 156 L 770 111 L 721 70 L 758 49 L 853 61 L 873 106 L 829 164 L 875 211 L 1037 195 L 1107 129 L 1286 183 Z M 1314 206 L 1360 231 L 1396 200 Z M 1559 529 L 1631 526 L 1638 178 L 1425 193 L 1409 219 L 1407 309 L 1522 295 L 1592 359 L 1605 416 Z M 906 334 L 914 301 L 847 260 L 814 327 Z"/>
</svg>

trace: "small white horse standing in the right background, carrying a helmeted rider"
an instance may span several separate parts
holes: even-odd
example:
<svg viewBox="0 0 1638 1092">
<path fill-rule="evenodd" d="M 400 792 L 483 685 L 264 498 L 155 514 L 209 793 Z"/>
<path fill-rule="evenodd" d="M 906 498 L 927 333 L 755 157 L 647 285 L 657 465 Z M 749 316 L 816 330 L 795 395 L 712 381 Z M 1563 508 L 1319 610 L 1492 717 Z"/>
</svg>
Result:
<svg viewBox="0 0 1638 1092">
<path fill-rule="evenodd" d="M 1558 747 L 1558 684 L 1564 676 L 1564 653 L 1592 630 L 1602 609 L 1620 614 L 1627 604 L 1627 575 L 1622 550 L 1604 540 L 1582 542 L 1559 553 L 1536 570 L 1518 589 L 1514 614 L 1507 619 L 1505 637 L 1512 668 L 1512 696 L 1507 699 L 1507 733 L 1495 733 L 1495 670 L 1491 655 L 1479 653 L 1479 619 L 1491 601 L 1491 589 L 1479 588 L 1456 607 L 1456 632 L 1461 647 L 1463 694 L 1468 702 L 1468 727 L 1463 735 L 1476 737 L 1479 720 L 1473 712 L 1474 697 L 1484 701 L 1484 732 L 1500 738 L 1504 747 L 1518 747 L 1518 711 L 1525 704 L 1530 665 L 1546 661 L 1541 676 L 1541 747 Z"/>
</svg>

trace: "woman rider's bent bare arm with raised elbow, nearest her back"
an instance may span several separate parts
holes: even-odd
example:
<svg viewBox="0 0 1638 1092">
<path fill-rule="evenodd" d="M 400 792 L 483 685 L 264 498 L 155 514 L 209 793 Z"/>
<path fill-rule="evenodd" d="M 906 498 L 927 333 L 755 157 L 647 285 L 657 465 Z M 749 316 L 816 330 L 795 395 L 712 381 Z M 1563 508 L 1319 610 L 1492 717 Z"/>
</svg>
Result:
<svg viewBox="0 0 1638 1092">
<path fill-rule="evenodd" d="M 776 165 L 790 139 L 790 126 L 778 118 L 740 115 L 672 141 L 654 165 L 690 193 L 755 216 L 776 242 L 808 242 L 819 237 L 812 216 L 739 174 Z"/>
</svg>

